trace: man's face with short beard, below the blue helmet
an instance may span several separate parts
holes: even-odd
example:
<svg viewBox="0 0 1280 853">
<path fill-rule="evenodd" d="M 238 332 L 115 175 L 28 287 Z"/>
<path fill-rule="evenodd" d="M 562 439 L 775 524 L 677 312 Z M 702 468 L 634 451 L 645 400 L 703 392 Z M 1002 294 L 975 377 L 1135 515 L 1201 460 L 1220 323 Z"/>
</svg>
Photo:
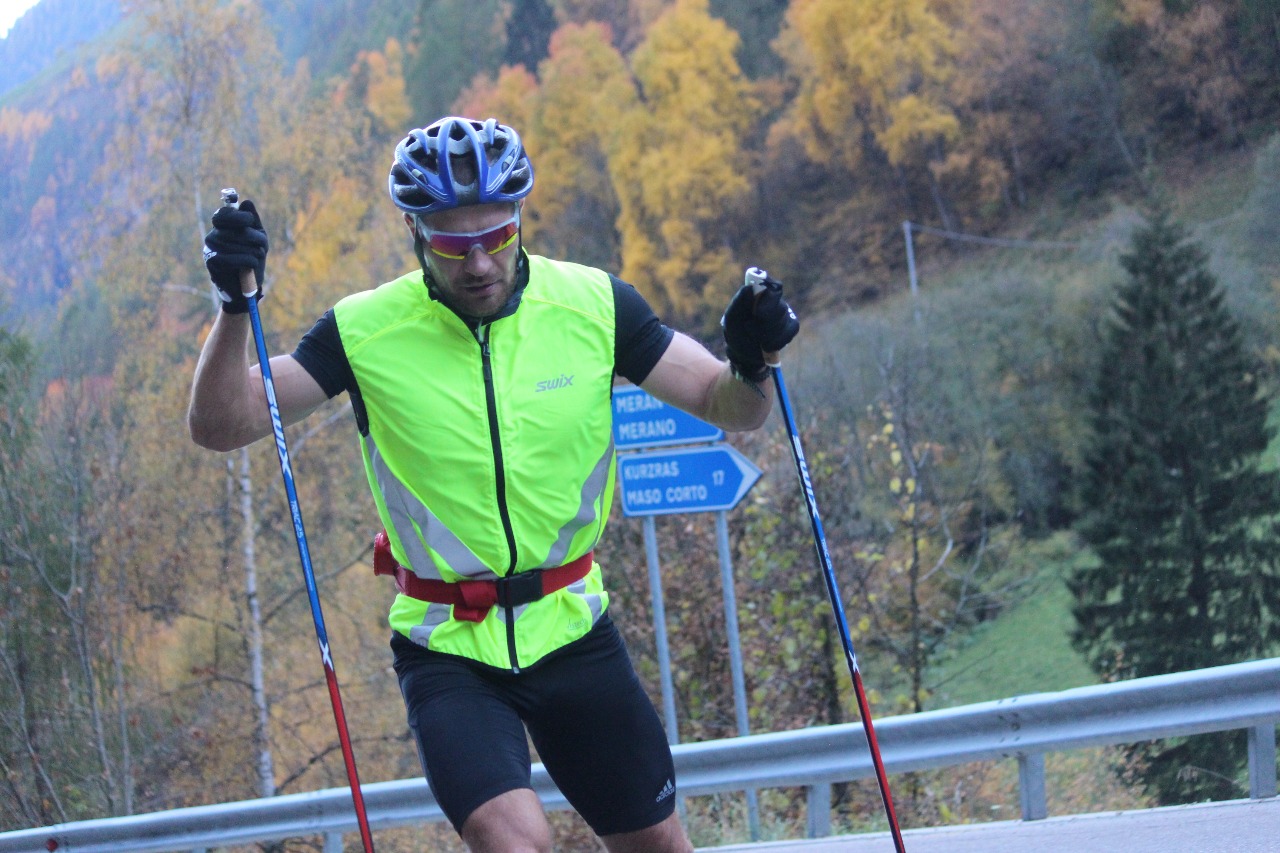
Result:
<svg viewBox="0 0 1280 853">
<path fill-rule="evenodd" d="M 516 289 L 516 261 L 520 254 L 520 241 L 512 240 L 511 245 L 492 255 L 485 251 L 484 243 L 490 241 L 490 246 L 495 245 L 492 242 L 494 237 L 488 232 L 511 220 L 518 209 L 518 205 L 500 202 L 454 207 L 420 218 L 422 238 L 426 242 L 422 247 L 422 256 L 435 279 L 439 296 L 453 310 L 484 318 L 495 314 L 511 298 Z M 413 218 L 406 215 L 404 220 L 412 232 Z M 430 241 L 429 237 L 433 233 L 442 237 Z M 477 236 L 458 240 L 453 234 Z M 433 250 L 433 242 L 444 243 L 445 254 L 462 255 L 462 257 L 443 256 Z"/>
</svg>

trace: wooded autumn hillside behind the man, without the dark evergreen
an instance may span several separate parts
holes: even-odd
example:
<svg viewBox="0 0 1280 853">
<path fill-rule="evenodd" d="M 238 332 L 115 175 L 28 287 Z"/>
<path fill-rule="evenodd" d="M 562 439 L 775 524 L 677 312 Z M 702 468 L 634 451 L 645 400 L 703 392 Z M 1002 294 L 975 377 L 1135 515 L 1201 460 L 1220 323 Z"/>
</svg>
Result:
<svg viewBox="0 0 1280 853">
<path fill-rule="evenodd" d="M 618 274 L 713 352 L 744 268 L 785 282 L 785 369 L 877 713 L 1100 678 L 1064 580 L 1088 560 L 1101 329 L 1155 200 L 1277 398 L 1280 51 L 1257 4 L 122 8 L 72 47 L 45 0 L 5 46 L 52 61 L 0 95 L 3 827 L 340 784 L 274 448 L 212 453 L 184 426 L 201 236 L 221 187 L 259 204 L 266 343 L 291 351 L 417 264 L 387 169 L 440 113 L 520 128 L 525 247 Z M 362 777 L 401 779 L 420 770 L 347 406 L 291 426 L 291 451 Z M 765 471 L 730 516 L 751 729 L 847 721 L 788 442 L 776 423 L 731 441 Z M 713 521 L 657 525 L 682 742 L 736 731 Z M 616 511 L 595 555 L 657 697 L 646 546 Z M 913 821 L 989 817 L 1009 785 L 988 770 L 914 779 Z M 695 817 L 731 821 L 712 799 Z M 803 793 L 767 808 L 786 825 Z M 855 786 L 840 808 L 878 813 Z M 591 844 L 557 825 L 559 849 Z"/>
</svg>

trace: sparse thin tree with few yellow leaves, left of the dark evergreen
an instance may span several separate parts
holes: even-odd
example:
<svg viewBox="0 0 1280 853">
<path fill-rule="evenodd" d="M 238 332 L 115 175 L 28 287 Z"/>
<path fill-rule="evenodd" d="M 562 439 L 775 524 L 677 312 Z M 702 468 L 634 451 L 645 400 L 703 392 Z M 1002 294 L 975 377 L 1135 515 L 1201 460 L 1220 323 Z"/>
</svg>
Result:
<svg viewBox="0 0 1280 853">
<path fill-rule="evenodd" d="M 980 423 L 931 403 L 924 388 L 945 382 L 945 371 L 929 355 L 910 342 L 877 355 L 877 402 L 851 437 L 860 447 L 849 451 L 859 453 L 861 523 L 842 525 L 856 542 L 868 644 L 899 674 L 896 704 L 911 713 L 928 707 L 931 678 L 957 633 L 1019 601 L 1027 583 L 998 453 Z"/>
</svg>

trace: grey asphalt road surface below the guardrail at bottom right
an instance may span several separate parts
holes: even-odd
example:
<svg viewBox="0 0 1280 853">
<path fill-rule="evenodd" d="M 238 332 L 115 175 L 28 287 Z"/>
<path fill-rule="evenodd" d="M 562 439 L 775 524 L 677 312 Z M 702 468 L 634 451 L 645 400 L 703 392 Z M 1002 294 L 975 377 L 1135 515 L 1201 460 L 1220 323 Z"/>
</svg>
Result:
<svg viewBox="0 0 1280 853">
<path fill-rule="evenodd" d="M 1280 853 L 1280 798 L 906 830 L 908 853 Z M 893 853 L 888 833 L 700 848 L 705 853 Z"/>
</svg>

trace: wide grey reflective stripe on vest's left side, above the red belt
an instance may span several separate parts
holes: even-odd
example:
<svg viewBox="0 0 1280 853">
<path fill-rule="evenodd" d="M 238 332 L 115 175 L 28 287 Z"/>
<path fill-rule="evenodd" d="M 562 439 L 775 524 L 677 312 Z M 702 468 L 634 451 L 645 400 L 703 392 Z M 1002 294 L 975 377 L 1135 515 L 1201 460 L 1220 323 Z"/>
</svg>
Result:
<svg viewBox="0 0 1280 853">
<path fill-rule="evenodd" d="M 471 548 L 462 543 L 453 530 L 444 526 L 435 515 L 419 501 L 408 488 L 401 483 L 399 478 L 392 474 L 383 461 L 383 455 L 378 450 L 378 443 L 372 435 L 364 437 L 369 448 L 369 460 L 372 464 L 374 474 L 378 476 L 378 488 L 383 493 L 383 502 L 390 515 L 390 524 L 396 529 L 401 547 L 404 548 L 404 557 L 410 569 L 419 578 L 426 580 L 443 580 L 435 561 L 426 552 L 430 547 L 440 555 L 449 569 L 467 578 L 497 578 L 484 562 L 476 557 Z M 419 537 L 419 530 L 426 538 L 426 547 Z"/>
</svg>

